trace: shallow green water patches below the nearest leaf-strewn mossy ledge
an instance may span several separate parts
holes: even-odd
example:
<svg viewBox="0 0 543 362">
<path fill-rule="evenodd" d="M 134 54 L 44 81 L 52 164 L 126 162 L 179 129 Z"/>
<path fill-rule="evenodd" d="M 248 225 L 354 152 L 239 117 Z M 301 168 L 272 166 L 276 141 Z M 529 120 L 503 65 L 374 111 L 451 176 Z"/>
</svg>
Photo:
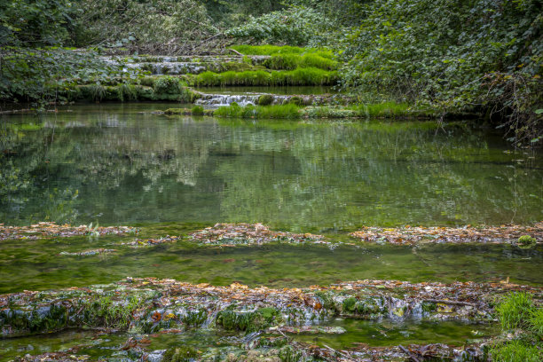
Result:
<svg viewBox="0 0 543 362">
<path fill-rule="evenodd" d="M 391 346 L 398 343 L 443 342 L 461 346 L 476 338 L 497 334 L 497 327 L 488 324 L 466 323 L 460 321 L 429 321 L 405 319 L 402 322 L 390 319 L 334 319 L 327 326 L 343 327 L 345 334 L 291 334 L 300 342 L 325 345 L 334 349 L 353 349 L 361 345 Z M 40 334 L 32 337 L 0 339 L 0 360 L 9 360 L 26 354 L 38 355 L 45 352 L 67 350 L 75 346 L 80 349 L 76 355 L 89 355 L 91 358 L 114 358 L 126 356 L 122 346 L 130 337 L 137 334 L 102 334 L 93 331 L 67 330 L 57 334 Z M 180 345 L 189 345 L 197 350 L 232 350 L 243 348 L 243 333 L 225 333 L 209 329 L 189 329 L 182 334 L 151 334 L 147 350 L 165 350 Z M 226 350 L 223 350 L 225 353 Z M 226 352 L 227 353 L 227 352 Z"/>
</svg>

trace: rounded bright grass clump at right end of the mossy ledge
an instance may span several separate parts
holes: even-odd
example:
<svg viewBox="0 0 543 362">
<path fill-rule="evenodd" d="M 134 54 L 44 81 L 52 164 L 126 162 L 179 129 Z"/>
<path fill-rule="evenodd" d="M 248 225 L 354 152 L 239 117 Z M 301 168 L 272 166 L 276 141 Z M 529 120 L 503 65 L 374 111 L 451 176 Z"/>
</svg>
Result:
<svg viewBox="0 0 543 362">
<path fill-rule="evenodd" d="M 535 311 L 531 295 L 513 293 L 508 295 L 498 306 L 496 312 L 503 329 L 528 327 L 528 320 Z"/>
</svg>

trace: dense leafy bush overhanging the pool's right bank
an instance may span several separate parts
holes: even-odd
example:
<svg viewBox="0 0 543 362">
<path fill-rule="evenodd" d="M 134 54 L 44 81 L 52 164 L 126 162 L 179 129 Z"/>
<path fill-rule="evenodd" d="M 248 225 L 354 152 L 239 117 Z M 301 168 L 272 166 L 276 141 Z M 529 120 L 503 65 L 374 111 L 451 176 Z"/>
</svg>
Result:
<svg viewBox="0 0 543 362">
<path fill-rule="evenodd" d="M 345 86 L 444 113 L 484 109 L 506 117 L 513 139 L 536 137 L 540 1 L 375 0 L 367 9 L 344 45 Z"/>
</svg>

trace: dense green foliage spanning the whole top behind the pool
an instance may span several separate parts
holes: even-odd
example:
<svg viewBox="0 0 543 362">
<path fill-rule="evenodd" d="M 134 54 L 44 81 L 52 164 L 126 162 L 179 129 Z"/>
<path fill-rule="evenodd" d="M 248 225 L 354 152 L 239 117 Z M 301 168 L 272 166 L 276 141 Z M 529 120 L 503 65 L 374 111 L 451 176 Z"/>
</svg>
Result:
<svg viewBox="0 0 543 362">
<path fill-rule="evenodd" d="M 109 72 L 74 51 L 47 46 L 202 54 L 224 52 L 232 43 L 300 45 L 339 55 L 343 87 L 365 101 L 418 103 L 443 115 L 478 112 L 517 144 L 539 141 L 540 0 L 4 3 L 0 98 L 55 98 L 83 68 L 94 69 L 97 83 Z M 271 62 L 299 66 L 285 54 Z"/>
</svg>

